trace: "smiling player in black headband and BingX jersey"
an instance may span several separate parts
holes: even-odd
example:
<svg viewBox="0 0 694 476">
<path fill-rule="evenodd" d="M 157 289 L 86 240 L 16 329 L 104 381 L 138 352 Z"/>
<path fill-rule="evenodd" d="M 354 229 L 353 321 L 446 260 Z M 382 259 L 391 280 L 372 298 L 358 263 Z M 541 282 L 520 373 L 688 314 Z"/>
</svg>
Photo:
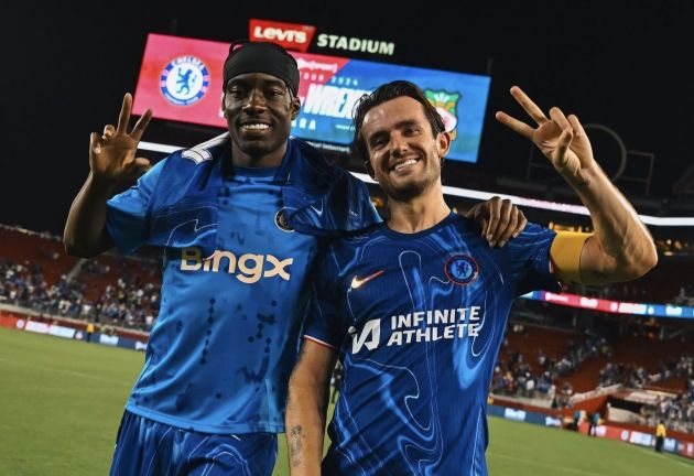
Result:
<svg viewBox="0 0 694 476">
<path fill-rule="evenodd" d="M 118 126 L 91 134 L 66 249 L 164 250 L 161 309 L 111 474 L 272 473 L 311 270 L 330 238 L 380 220 L 364 183 L 290 138 L 297 93 L 299 68 L 283 48 L 234 44 L 224 134 L 150 166 L 135 151 L 152 112 L 128 132 L 130 95 Z M 480 221 L 511 218 L 488 227 L 497 239 L 522 228 L 514 208 L 491 205 L 478 208 Z"/>
</svg>

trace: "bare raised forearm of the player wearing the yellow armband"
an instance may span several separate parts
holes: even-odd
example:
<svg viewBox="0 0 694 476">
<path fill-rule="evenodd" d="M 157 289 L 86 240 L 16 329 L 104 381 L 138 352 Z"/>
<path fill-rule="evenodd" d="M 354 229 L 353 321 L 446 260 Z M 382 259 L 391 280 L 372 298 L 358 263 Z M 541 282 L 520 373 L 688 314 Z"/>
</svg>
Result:
<svg viewBox="0 0 694 476">
<path fill-rule="evenodd" d="M 579 180 L 568 182 L 590 212 L 595 241 L 588 241 L 586 247 L 587 252 L 599 257 L 592 261 L 600 263 L 597 269 L 593 267 L 589 275 L 582 272 L 584 282 L 632 280 L 655 266 L 658 252 L 653 238 L 631 204 L 597 164 L 582 170 Z"/>
</svg>

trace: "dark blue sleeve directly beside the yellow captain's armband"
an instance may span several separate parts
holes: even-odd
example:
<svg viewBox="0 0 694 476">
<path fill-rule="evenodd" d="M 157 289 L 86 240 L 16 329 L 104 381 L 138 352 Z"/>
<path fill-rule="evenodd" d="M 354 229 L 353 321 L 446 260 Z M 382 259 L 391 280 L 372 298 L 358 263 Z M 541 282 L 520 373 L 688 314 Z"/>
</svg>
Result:
<svg viewBox="0 0 694 476">
<path fill-rule="evenodd" d="M 522 234 L 508 242 L 517 295 L 535 290 L 561 291 L 550 263 L 554 237 L 555 231 L 528 224 Z"/>
</svg>

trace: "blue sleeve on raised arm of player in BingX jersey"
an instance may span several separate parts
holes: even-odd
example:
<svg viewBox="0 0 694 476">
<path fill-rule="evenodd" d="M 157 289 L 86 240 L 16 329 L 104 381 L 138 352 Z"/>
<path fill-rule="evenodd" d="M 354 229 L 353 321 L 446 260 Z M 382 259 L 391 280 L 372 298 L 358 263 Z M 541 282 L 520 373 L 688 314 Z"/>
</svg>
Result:
<svg viewBox="0 0 694 476">
<path fill-rule="evenodd" d="M 132 252 L 147 241 L 150 199 L 165 162 L 158 162 L 135 185 L 106 203 L 106 229 L 122 252 Z"/>
</svg>

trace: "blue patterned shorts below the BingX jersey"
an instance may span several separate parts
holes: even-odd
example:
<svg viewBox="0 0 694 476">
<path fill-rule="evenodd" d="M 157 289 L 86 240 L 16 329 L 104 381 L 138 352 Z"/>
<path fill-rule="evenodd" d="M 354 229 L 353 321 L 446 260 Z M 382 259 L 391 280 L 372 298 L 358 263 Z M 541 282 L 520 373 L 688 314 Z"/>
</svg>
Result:
<svg viewBox="0 0 694 476">
<path fill-rule="evenodd" d="M 197 433 L 127 411 L 110 475 L 271 476 L 276 457 L 274 433 Z"/>
</svg>

